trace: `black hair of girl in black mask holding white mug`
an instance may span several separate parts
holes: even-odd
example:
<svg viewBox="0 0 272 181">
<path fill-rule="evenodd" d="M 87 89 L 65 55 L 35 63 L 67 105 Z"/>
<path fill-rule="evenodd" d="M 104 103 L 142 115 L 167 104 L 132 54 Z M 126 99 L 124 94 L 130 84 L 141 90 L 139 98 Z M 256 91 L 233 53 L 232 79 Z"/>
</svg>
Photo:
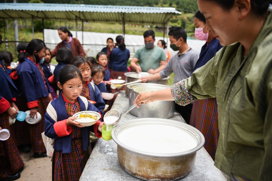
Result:
<svg viewBox="0 0 272 181">
<path fill-rule="evenodd" d="M 28 43 L 28 46 L 26 47 L 25 51 L 20 50 L 19 55 L 18 55 L 18 61 L 23 62 L 25 57 L 33 55 L 34 51 L 39 52 L 44 47 L 45 47 L 45 43 L 43 40 L 32 39 Z"/>
</svg>

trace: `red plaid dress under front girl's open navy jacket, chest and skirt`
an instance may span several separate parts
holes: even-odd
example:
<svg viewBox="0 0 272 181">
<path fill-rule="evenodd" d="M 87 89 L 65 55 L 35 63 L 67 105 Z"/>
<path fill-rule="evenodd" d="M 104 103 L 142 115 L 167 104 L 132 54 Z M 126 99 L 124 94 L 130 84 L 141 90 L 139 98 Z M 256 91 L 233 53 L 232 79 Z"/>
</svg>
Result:
<svg viewBox="0 0 272 181">
<path fill-rule="evenodd" d="M 65 102 L 68 116 L 80 111 L 79 102 Z M 53 180 L 79 180 L 83 169 L 90 156 L 88 151 L 82 150 L 81 129 L 72 126 L 72 152 L 63 154 L 62 151 L 54 151 L 52 158 L 52 178 Z"/>
</svg>

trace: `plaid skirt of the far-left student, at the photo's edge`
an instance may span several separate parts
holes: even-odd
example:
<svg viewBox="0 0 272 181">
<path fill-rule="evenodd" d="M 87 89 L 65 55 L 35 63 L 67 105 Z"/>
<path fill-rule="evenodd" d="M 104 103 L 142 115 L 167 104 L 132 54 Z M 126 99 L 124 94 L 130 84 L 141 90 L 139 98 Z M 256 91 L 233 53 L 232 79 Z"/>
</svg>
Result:
<svg viewBox="0 0 272 181">
<path fill-rule="evenodd" d="M 2 129 L 8 129 L 10 132 L 7 140 L 0 141 L 0 180 L 2 180 L 18 172 L 24 167 L 24 162 L 16 145 L 14 130 L 9 126 L 8 113 L 0 114 L 0 125 Z"/>
</svg>

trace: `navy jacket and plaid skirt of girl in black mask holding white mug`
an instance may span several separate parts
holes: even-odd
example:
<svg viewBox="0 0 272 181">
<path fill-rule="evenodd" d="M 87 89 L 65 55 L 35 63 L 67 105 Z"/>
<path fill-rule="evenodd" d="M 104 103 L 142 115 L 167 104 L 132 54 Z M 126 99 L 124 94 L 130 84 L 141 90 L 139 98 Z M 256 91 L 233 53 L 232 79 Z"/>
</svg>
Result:
<svg viewBox="0 0 272 181">
<path fill-rule="evenodd" d="M 49 103 L 49 87 L 45 85 L 43 72 L 30 57 L 17 67 L 19 87 L 28 109 L 37 108 L 41 115 L 39 123 L 30 126 L 30 139 L 34 154 L 46 152 L 41 133 L 44 131 L 44 114 Z"/>
</svg>

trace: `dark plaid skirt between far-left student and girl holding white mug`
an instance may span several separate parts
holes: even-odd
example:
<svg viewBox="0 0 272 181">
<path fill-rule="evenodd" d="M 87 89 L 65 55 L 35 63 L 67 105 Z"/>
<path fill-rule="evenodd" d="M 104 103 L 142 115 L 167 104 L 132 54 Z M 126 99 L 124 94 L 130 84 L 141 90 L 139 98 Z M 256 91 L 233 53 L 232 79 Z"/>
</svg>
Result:
<svg viewBox="0 0 272 181">
<path fill-rule="evenodd" d="M 29 110 L 26 102 L 24 101 L 23 96 L 16 97 L 16 106 L 20 111 L 27 111 Z M 16 142 L 18 146 L 24 145 L 24 144 L 31 144 L 30 143 L 30 133 L 29 128 L 30 124 L 23 121 L 15 121 L 11 127 L 14 129 Z"/>
</svg>

